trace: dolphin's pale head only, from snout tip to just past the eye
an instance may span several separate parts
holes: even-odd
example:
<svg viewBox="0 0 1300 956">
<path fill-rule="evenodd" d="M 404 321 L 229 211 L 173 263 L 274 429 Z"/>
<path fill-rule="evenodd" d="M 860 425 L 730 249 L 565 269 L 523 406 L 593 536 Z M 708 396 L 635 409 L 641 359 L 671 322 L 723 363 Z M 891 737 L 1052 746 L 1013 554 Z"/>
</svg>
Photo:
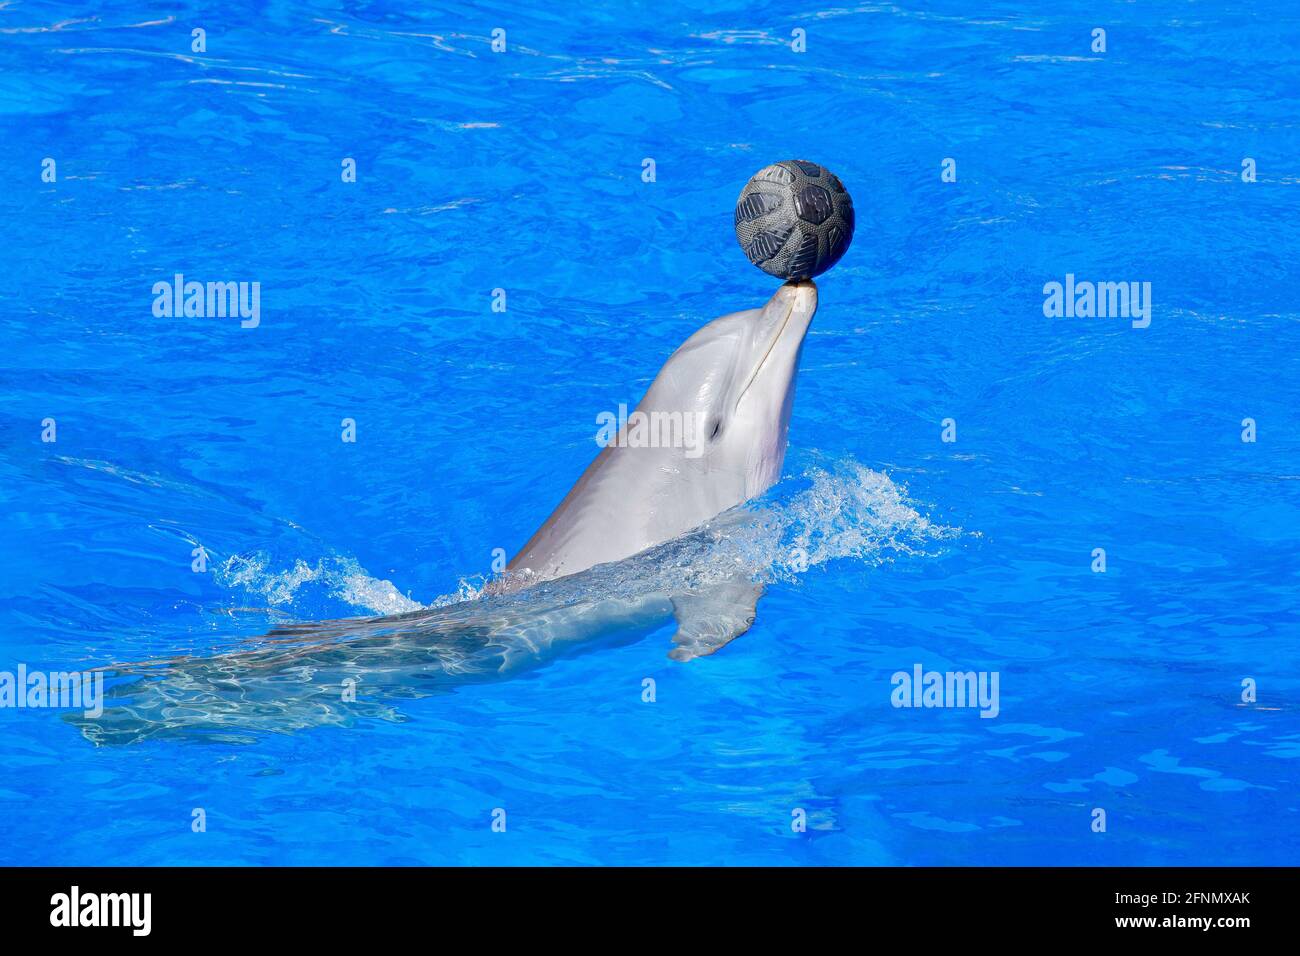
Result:
<svg viewBox="0 0 1300 956">
<path fill-rule="evenodd" d="M 693 441 L 679 464 L 734 498 L 723 507 L 762 494 L 781 475 L 794 377 L 815 311 L 816 286 L 803 280 L 783 285 L 763 308 L 708 323 L 673 352 L 640 406 L 690 416 Z M 688 484 L 690 475 L 682 477 Z"/>
</svg>

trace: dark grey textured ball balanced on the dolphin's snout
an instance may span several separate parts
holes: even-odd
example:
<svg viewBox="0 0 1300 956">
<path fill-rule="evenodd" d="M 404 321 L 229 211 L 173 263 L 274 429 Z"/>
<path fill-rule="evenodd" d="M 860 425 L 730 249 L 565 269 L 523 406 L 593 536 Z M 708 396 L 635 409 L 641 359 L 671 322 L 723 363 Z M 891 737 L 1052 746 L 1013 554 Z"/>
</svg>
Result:
<svg viewBox="0 0 1300 956">
<path fill-rule="evenodd" d="M 736 238 L 777 278 L 812 278 L 853 242 L 853 199 L 838 177 L 807 160 L 764 166 L 736 200 Z"/>
</svg>

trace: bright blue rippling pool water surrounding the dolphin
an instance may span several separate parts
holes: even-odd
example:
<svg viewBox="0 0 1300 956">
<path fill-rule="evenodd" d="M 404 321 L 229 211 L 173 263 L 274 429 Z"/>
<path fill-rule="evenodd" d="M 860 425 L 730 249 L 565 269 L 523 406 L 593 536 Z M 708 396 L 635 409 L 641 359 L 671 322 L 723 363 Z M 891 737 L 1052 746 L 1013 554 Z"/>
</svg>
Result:
<svg viewBox="0 0 1300 956">
<path fill-rule="evenodd" d="M 796 156 L 858 211 L 766 505 L 810 566 L 714 657 L 389 719 L 0 710 L 0 862 L 1300 861 L 1294 7 L 533 5 L 0 3 L 0 670 L 473 594 L 597 412 L 772 293 L 732 204 Z M 156 317 L 174 273 L 260 324 Z M 1149 328 L 1045 317 L 1067 273 Z M 890 706 L 915 663 L 998 715 Z"/>
</svg>

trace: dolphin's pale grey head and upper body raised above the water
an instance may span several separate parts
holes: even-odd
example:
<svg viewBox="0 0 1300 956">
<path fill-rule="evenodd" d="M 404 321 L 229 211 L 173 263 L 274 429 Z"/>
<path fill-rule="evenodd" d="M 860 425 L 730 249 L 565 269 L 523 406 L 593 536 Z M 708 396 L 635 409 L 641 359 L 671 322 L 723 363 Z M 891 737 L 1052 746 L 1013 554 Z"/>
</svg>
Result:
<svg viewBox="0 0 1300 956">
<path fill-rule="evenodd" d="M 771 488 L 815 311 L 816 286 L 786 282 L 688 338 L 510 570 L 547 580 L 621 561 Z"/>
</svg>

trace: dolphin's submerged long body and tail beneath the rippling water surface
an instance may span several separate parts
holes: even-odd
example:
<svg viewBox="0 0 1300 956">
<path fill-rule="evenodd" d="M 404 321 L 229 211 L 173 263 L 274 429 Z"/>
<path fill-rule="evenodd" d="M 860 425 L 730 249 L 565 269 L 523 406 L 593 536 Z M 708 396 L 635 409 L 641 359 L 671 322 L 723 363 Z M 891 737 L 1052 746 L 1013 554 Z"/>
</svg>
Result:
<svg viewBox="0 0 1300 956">
<path fill-rule="evenodd" d="M 733 574 L 762 516 L 744 509 L 645 554 L 536 587 L 385 618 L 290 624 L 244 649 L 105 669 L 104 708 L 69 714 L 95 744 L 255 743 L 263 732 L 404 719 L 403 700 L 638 640 L 681 594 Z M 722 546 L 720 546 L 722 545 Z M 762 550 L 759 548 L 758 550 Z M 677 597 L 675 597 L 677 596 Z"/>
</svg>

